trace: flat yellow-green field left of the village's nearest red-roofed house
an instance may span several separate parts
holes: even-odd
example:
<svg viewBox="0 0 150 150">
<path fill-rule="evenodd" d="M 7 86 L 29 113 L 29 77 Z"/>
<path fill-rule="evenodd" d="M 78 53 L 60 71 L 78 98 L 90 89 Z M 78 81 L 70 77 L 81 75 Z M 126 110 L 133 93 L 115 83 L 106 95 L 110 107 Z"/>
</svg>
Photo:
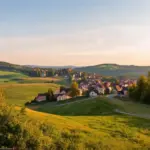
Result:
<svg viewBox="0 0 150 150">
<path fill-rule="evenodd" d="M 9 104 L 23 106 L 31 101 L 38 93 L 47 92 L 48 88 L 56 90 L 59 86 L 56 84 L 1 84 L 5 91 L 6 101 Z"/>
</svg>

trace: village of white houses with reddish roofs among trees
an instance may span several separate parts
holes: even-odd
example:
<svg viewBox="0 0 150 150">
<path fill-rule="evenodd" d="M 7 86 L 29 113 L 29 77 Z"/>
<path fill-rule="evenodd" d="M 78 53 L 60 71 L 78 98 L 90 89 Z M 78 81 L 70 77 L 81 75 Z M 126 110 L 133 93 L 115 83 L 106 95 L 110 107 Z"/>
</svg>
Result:
<svg viewBox="0 0 150 150">
<path fill-rule="evenodd" d="M 82 98 L 82 97 L 98 97 L 101 95 L 114 94 L 118 97 L 128 97 L 129 87 L 136 84 L 136 80 L 118 80 L 105 81 L 102 76 L 97 74 L 90 74 L 85 72 L 74 72 L 72 75 L 56 74 L 64 80 L 71 80 L 70 86 L 60 86 L 56 91 L 48 90 L 46 93 L 38 94 L 32 103 L 45 102 L 45 101 L 65 101 L 69 99 Z M 70 79 L 71 78 L 71 79 Z"/>
</svg>

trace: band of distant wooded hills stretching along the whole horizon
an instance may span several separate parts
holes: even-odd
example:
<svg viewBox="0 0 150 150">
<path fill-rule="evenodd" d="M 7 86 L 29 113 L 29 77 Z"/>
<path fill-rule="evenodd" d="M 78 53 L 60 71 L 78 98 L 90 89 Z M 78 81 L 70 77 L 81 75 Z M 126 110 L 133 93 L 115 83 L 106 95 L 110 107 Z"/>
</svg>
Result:
<svg viewBox="0 0 150 150">
<path fill-rule="evenodd" d="M 39 68 L 50 68 L 50 66 L 32 66 L 32 65 L 16 65 L 7 62 L 0 62 L 0 71 L 12 71 L 12 72 L 21 72 L 25 75 L 28 75 L 32 71 L 33 67 Z M 103 76 L 112 76 L 112 77 L 132 77 L 137 78 L 140 75 L 146 75 L 150 71 L 150 66 L 134 66 L 134 65 L 118 65 L 118 64 L 100 64 L 95 66 L 87 67 L 75 67 L 75 66 L 51 66 L 51 68 L 68 68 L 71 67 L 75 71 L 82 71 L 88 73 L 97 73 Z"/>
</svg>

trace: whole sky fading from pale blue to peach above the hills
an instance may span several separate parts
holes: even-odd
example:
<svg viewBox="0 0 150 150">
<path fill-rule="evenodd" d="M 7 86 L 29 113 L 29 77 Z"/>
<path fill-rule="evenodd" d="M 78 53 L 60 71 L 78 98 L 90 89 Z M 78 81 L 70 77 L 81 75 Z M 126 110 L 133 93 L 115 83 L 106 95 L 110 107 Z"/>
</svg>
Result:
<svg viewBox="0 0 150 150">
<path fill-rule="evenodd" d="M 150 65 L 150 0 L 0 1 L 0 61 Z"/>
</svg>

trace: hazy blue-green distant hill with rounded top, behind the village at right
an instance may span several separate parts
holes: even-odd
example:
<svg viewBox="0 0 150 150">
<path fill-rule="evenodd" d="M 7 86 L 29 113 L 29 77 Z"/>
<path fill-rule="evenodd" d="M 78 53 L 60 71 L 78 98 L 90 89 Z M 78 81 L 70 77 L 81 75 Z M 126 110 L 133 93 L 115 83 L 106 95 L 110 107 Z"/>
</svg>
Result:
<svg viewBox="0 0 150 150">
<path fill-rule="evenodd" d="M 75 68 L 75 70 L 88 73 L 97 73 L 104 76 L 127 76 L 136 78 L 140 75 L 146 75 L 147 72 L 150 71 L 150 66 L 100 64 L 95 66 Z"/>
</svg>

